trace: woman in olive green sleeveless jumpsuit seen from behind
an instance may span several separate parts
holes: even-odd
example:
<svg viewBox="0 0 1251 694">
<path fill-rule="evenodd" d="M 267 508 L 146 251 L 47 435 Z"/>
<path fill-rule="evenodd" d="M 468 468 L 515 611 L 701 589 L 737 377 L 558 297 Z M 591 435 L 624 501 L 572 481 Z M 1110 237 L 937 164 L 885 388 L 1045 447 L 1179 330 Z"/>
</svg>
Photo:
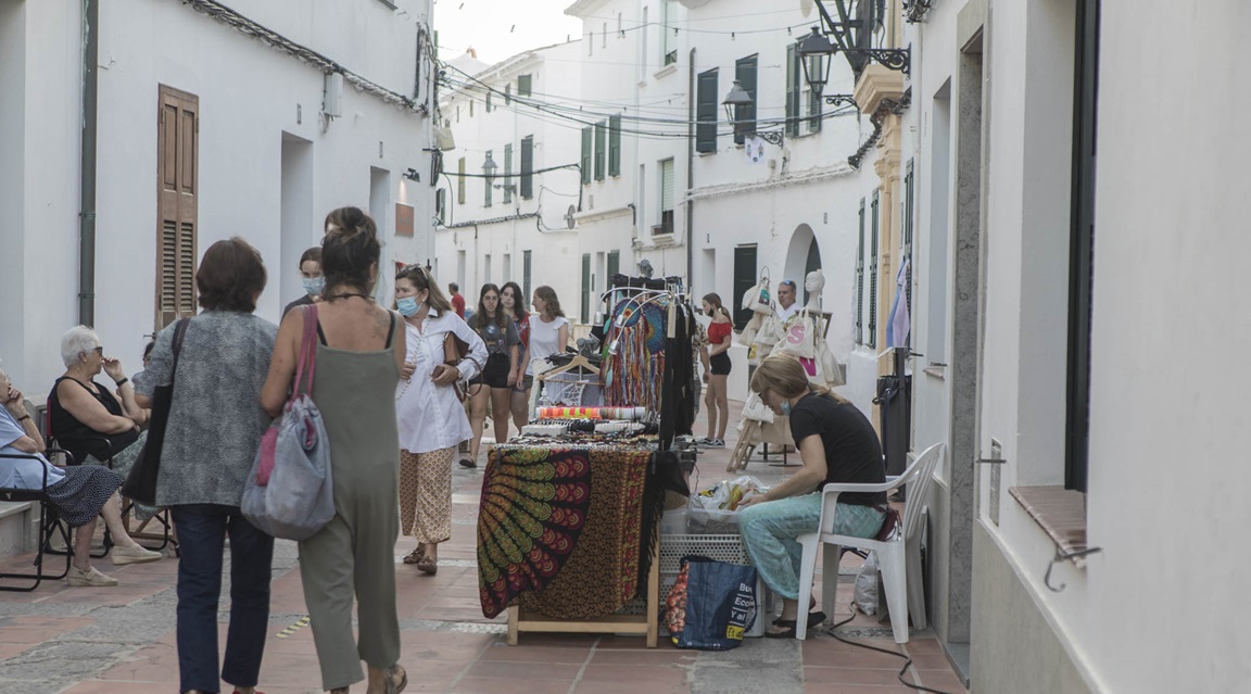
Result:
<svg viewBox="0 0 1251 694">
<path fill-rule="evenodd" d="M 330 444 L 335 515 L 300 543 L 300 579 L 322 663 L 323 689 L 347 694 L 369 665 L 369 694 L 404 689 L 398 664 L 395 559 L 399 536 L 399 430 L 395 386 L 407 354 L 399 316 L 374 304 L 382 245 L 374 220 L 357 208 L 327 215 L 322 241 L 325 293 L 315 306 L 317 369 L 313 401 Z M 291 311 L 278 329 L 260 401 L 278 416 L 295 375 L 305 314 Z M 359 640 L 353 639 L 353 598 Z"/>
</svg>

